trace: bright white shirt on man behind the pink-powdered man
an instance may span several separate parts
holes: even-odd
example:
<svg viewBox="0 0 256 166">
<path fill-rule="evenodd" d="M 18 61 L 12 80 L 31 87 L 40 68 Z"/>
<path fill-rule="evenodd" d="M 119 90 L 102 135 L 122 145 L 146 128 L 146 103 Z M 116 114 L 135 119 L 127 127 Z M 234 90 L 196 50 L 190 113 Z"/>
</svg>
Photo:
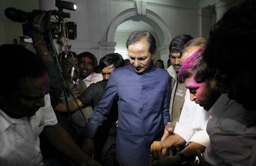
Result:
<svg viewBox="0 0 256 166">
<path fill-rule="evenodd" d="M 199 104 L 191 101 L 189 96 L 187 89 L 180 119 L 176 123 L 174 133 L 181 136 L 187 143 L 196 142 L 208 146 L 209 136 L 206 132 L 206 125 L 209 113 Z"/>
</svg>

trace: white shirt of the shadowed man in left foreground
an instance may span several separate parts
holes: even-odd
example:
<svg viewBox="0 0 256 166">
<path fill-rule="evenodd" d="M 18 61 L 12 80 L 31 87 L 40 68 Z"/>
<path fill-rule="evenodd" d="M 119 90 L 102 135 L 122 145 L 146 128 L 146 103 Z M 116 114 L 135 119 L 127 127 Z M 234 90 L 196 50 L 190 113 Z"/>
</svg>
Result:
<svg viewBox="0 0 256 166">
<path fill-rule="evenodd" d="M 0 165 L 41 165 L 39 134 L 44 126 L 56 123 L 49 94 L 45 95 L 45 107 L 32 117 L 15 119 L 0 109 Z"/>
</svg>

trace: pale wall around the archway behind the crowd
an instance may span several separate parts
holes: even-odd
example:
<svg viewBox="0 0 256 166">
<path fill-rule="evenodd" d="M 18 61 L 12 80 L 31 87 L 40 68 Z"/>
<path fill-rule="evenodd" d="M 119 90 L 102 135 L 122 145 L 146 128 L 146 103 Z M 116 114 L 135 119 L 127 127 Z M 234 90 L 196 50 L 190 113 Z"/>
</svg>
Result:
<svg viewBox="0 0 256 166">
<path fill-rule="evenodd" d="M 129 9 L 137 9 L 136 5 L 140 1 L 132 0 L 68 0 L 69 2 L 75 2 L 77 5 L 76 11 L 64 10 L 71 14 L 71 18 L 67 21 L 73 21 L 77 23 L 77 39 L 69 40 L 69 44 L 72 45 L 72 51 L 81 53 L 89 51 L 100 59 L 107 53 L 114 52 L 115 45 L 118 47 L 125 47 L 125 41 L 127 39 L 126 34 L 118 34 L 112 38 L 113 40 L 107 40 L 107 35 L 113 20 L 118 20 L 120 14 Z M 56 9 L 53 0 L 40 0 L 45 4 L 41 6 L 44 10 Z M 172 37 L 187 33 L 194 37 L 208 37 L 208 32 L 212 26 L 212 14 L 210 12 L 203 11 L 203 16 L 199 10 L 199 0 L 143 0 L 144 4 L 142 12 L 144 10 L 146 15 L 138 15 L 141 17 L 147 17 L 148 11 L 157 16 L 162 22 L 152 21 L 152 25 L 165 25 L 167 29 L 162 33 L 159 33 L 157 27 L 152 27 L 156 31 L 154 34 L 161 34 L 156 36 L 159 51 L 159 56 L 156 59 L 162 59 L 167 63 L 168 59 L 168 46 Z M 19 10 L 31 12 L 33 9 L 39 9 L 39 0 L 0 0 L 0 9 L 3 12 L 0 16 L 0 44 L 12 43 L 14 38 L 19 39 L 22 35 L 21 23 L 12 22 L 4 15 L 4 10 L 7 7 L 15 7 Z M 136 4 L 137 3 L 137 4 Z M 136 22 L 135 22 L 136 23 Z M 161 25 L 160 25 L 161 27 Z M 163 26 L 162 26 L 163 27 Z M 167 34 L 170 34 L 169 38 Z M 116 41 L 116 43 L 115 43 Z"/>
</svg>

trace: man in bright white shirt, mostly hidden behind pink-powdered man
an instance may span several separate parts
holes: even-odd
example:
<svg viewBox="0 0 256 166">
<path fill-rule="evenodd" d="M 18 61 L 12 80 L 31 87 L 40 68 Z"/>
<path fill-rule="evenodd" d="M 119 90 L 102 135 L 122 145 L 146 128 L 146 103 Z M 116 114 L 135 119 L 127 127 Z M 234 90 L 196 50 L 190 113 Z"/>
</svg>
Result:
<svg viewBox="0 0 256 166">
<path fill-rule="evenodd" d="M 206 43 L 207 39 L 202 37 L 189 40 L 182 50 L 181 61 L 184 62 L 199 48 L 204 47 Z M 188 160 L 195 161 L 198 150 L 204 152 L 209 145 L 209 136 L 206 132 L 209 113 L 199 104 L 190 101 L 189 96 L 189 90 L 187 89 L 180 118 L 174 131 L 171 125 L 167 125 L 161 142 L 154 141 L 151 145 L 152 158 L 157 160 L 152 166 L 181 164 Z M 186 147 L 182 151 L 173 156 L 166 156 L 170 147 L 184 144 L 186 144 Z"/>
</svg>

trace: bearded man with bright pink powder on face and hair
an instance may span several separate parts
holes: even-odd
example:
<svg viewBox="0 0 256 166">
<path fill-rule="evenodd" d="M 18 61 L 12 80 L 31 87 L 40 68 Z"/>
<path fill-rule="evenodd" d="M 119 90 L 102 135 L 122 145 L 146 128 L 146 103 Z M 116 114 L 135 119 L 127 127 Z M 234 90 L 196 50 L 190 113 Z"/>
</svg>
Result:
<svg viewBox="0 0 256 166">
<path fill-rule="evenodd" d="M 201 48 L 182 64 L 179 81 L 189 89 L 190 100 L 210 113 L 206 128 L 210 144 L 204 159 L 211 165 L 249 165 L 256 138 L 256 126 L 251 125 L 255 113 L 223 93 L 231 88 L 226 86 L 227 77 L 210 66 L 203 55 Z"/>
</svg>

